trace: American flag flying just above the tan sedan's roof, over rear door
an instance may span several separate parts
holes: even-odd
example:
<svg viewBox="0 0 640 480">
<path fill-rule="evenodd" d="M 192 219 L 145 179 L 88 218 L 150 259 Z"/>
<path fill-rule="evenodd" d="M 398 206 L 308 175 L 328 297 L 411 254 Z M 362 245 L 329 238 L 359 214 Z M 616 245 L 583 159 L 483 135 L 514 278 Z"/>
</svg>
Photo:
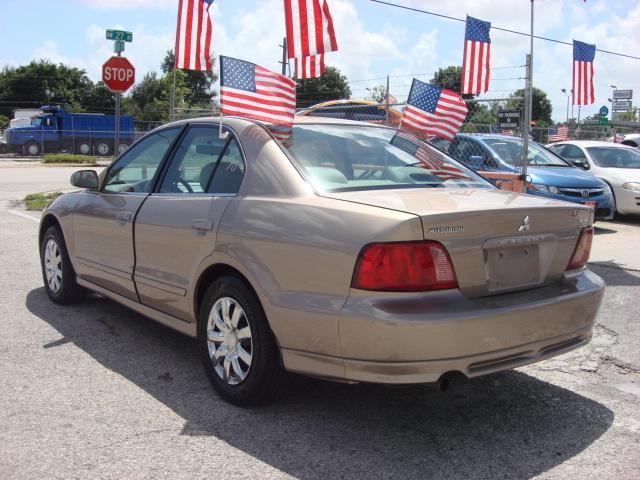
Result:
<svg viewBox="0 0 640 480">
<path fill-rule="evenodd" d="M 295 81 L 254 63 L 220 56 L 221 113 L 291 126 L 295 111 Z"/>
</svg>

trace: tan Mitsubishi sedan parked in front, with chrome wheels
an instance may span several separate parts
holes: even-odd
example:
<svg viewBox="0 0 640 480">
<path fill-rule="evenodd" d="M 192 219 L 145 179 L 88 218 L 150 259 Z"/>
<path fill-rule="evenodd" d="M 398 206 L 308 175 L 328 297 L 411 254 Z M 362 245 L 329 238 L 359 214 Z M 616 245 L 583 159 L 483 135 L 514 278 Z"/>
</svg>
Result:
<svg viewBox="0 0 640 480">
<path fill-rule="evenodd" d="M 182 121 L 71 183 L 40 227 L 51 300 L 99 292 L 197 337 L 235 404 L 285 371 L 437 383 L 536 362 L 589 341 L 604 292 L 589 207 L 498 190 L 393 128 Z"/>
</svg>

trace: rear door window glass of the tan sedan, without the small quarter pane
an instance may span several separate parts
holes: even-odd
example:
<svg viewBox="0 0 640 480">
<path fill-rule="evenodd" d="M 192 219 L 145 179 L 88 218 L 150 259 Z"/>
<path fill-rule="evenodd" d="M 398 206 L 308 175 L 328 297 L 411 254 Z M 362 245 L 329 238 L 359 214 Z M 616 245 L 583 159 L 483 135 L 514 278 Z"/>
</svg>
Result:
<svg viewBox="0 0 640 480">
<path fill-rule="evenodd" d="M 160 193 L 207 192 L 226 143 L 217 128 L 191 127 L 176 149 Z"/>
</svg>

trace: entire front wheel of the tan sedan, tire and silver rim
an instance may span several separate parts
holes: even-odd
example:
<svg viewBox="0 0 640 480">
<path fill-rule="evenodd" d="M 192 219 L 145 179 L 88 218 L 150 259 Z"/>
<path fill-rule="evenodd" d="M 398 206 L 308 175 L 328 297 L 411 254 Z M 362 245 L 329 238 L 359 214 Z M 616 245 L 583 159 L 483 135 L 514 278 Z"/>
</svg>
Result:
<svg viewBox="0 0 640 480">
<path fill-rule="evenodd" d="M 85 289 L 76 282 L 76 272 L 58 227 L 49 227 L 45 232 L 40 260 L 44 288 L 52 302 L 64 305 L 82 299 Z"/>
</svg>

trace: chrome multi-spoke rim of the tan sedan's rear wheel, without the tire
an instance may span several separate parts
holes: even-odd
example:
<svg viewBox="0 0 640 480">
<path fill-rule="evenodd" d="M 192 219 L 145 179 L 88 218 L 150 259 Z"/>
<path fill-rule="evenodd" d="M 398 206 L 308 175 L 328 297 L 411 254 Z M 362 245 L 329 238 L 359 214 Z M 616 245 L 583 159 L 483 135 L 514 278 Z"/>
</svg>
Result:
<svg viewBox="0 0 640 480">
<path fill-rule="evenodd" d="M 247 316 L 231 297 L 219 298 L 207 320 L 209 358 L 218 376 L 229 385 L 247 377 L 253 358 L 253 339 Z"/>
</svg>

